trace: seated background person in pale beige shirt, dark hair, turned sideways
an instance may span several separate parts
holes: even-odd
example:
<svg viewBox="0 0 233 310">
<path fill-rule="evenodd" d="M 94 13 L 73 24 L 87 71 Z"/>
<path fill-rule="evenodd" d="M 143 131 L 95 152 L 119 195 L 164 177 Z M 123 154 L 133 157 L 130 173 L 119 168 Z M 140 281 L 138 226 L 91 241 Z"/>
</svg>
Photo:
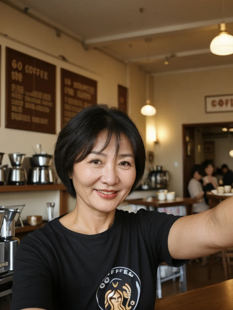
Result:
<svg viewBox="0 0 233 310">
<path fill-rule="evenodd" d="M 201 175 L 201 165 L 194 165 L 191 170 L 192 179 L 189 181 L 188 190 L 191 198 L 200 198 L 202 201 L 193 204 L 193 213 L 199 213 L 209 209 L 209 206 L 204 201 L 204 191 L 200 180 Z"/>
</svg>

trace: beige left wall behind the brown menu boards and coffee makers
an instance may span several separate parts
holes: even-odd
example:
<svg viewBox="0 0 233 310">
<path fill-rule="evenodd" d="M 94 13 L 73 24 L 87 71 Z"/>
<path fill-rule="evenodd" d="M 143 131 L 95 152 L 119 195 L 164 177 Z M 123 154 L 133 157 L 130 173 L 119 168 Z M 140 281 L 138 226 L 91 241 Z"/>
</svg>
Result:
<svg viewBox="0 0 233 310">
<path fill-rule="evenodd" d="M 60 68 L 82 74 L 98 82 L 98 103 L 117 106 L 117 84 L 129 87 L 130 114 L 145 134 L 145 119 L 140 117 L 140 108 L 145 101 L 145 77 L 137 66 L 130 66 L 127 71 L 123 64 L 96 50 L 85 51 L 81 44 L 62 35 L 56 37 L 55 31 L 31 19 L 0 2 L 0 36 L 1 55 L 1 126 L 0 152 L 6 153 L 3 164 L 9 164 L 7 153 L 23 152 L 32 156 L 31 145 L 42 144 L 43 151 L 53 153 L 56 135 L 20 131 L 5 128 L 5 48 L 11 47 L 57 66 L 57 133 L 60 131 Z M 33 47 L 33 48 L 31 48 Z M 64 55 L 72 65 L 53 56 Z M 23 217 L 37 214 L 46 216 L 45 202 L 33 199 L 28 193 L 1 194 L 1 205 L 25 203 Z M 58 212 L 58 192 L 44 192 L 45 201 L 56 201 Z M 72 201 L 71 205 L 74 205 Z M 56 213 L 57 214 L 57 213 Z"/>
</svg>

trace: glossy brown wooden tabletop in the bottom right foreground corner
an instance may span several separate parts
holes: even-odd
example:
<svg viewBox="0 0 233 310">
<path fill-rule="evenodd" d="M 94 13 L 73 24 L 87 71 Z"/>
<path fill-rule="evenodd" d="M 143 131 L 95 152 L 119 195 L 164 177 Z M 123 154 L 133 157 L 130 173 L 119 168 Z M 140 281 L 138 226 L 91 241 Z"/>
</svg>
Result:
<svg viewBox="0 0 233 310">
<path fill-rule="evenodd" d="M 232 310 L 233 279 L 157 300 L 154 310 Z"/>
</svg>

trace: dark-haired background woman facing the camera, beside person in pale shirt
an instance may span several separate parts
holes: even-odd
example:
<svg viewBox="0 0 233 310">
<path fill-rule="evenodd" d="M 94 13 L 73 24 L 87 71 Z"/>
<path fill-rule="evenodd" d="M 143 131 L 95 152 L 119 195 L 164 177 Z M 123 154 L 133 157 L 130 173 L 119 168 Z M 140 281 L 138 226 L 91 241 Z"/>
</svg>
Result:
<svg viewBox="0 0 233 310">
<path fill-rule="evenodd" d="M 214 173 L 214 165 L 212 161 L 206 160 L 203 162 L 203 168 L 205 171 L 205 176 L 203 177 L 203 191 L 204 191 L 204 199 L 205 202 L 208 204 L 208 197 L 206 196 L 207 192 L 210 192 L 212 189 L 217 189 L 218 187 L 218 180 L 215 176 L 213 176 Z"/>
</svg>

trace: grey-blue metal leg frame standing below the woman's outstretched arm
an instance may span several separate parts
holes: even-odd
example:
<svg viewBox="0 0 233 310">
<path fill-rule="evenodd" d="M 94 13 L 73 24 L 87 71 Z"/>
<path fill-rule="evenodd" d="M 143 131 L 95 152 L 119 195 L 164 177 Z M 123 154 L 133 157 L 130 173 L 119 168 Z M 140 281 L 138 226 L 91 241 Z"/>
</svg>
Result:
<svg viewBox="0 0 233 310">
<path fill-rule="evenodd" d="M 160 266 L 161 265 L 167 265 L 166 263 L 161 263 L 158 266 L 158 270 L 157 270 L 157 297 L 158 298 L 162 298 L 162 288 L 161 288 L 161 283 L 168 281 L 168 280 L 175 280 L 176 277 L 180 277 L 180 285 L 181 285 L 181 291 L 186 292 L 187 291 L 187 282 L 186 282 L 186 266 L 183 265 L 180 267 L 180 272 L 176 272 L 174 274 L 172 274 L 169 277 L 165 277 L 161 279 L 160 276 Z M 167 265 L 168 266 L 168 265 Z"/>
</svg>

